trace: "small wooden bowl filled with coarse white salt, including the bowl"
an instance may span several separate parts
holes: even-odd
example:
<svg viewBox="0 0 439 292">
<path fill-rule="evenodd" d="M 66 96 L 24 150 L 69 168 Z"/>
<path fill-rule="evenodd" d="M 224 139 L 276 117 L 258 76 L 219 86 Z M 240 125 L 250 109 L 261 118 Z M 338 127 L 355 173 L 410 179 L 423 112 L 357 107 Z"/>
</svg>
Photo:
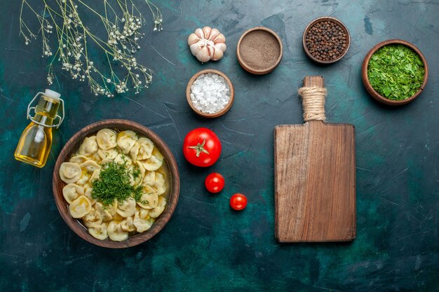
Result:
<svg viewBox="0 0 439 292">
<path fill-rule="evenodd" d="M 189 106 L 205 118 L 224 115 L 234 103 L 234 86 L 226 74 L 215 69 L 199 71 L 186 88 Z"/>
</svg>

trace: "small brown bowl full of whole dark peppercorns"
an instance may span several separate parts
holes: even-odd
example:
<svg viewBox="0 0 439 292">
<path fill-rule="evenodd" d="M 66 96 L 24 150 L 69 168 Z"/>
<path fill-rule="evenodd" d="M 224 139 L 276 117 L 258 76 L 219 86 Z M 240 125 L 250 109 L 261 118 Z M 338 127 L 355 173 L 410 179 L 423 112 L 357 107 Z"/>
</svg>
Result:
<svg viewBox="0 0 439 292">
<path fill-rule="evenodd" d="M 324 16 L 311 21 L 304 31 L 305 54 L 319 64 L 331 64 L 342 59 L 351 45 L 346 25 L 337 18 Z"/>
</svg>

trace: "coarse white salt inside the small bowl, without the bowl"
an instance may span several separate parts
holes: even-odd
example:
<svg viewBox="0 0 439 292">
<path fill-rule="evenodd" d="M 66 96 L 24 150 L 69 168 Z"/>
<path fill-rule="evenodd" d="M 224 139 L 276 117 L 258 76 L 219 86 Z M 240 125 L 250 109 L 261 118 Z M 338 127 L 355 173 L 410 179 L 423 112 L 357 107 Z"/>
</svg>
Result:
<svg viewBox="0 0 439 292">
<path fill-rule="evenodd" d="M 191 101 L 203 113 L 222 111 L 230 101 L 229 84 L 218 74 L 201 74 L 191 85 Z"/>
</svg>

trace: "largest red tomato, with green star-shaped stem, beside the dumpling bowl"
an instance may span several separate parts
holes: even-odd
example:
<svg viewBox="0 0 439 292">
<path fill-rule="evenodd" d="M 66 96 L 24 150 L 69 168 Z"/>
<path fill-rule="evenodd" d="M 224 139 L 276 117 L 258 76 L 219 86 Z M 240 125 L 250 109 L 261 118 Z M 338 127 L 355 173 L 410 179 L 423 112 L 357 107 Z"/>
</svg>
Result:
<svg viewBox="0 0 439 292">
<path fill-rule="evenodd" d="M 211 130 L 198 127 L 184 138 L 183 154 L 191 164 L 208 167 L 217 162 L 221 155 L 221 142 Z"/>
</svg>

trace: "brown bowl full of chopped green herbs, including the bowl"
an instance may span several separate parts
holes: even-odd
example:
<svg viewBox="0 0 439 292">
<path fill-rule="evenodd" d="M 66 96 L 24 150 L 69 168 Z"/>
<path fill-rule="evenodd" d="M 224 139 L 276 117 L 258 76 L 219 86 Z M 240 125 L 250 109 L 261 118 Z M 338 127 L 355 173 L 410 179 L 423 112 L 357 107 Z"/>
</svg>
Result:
<svg viewBox="0 0 439 292">
<path fill-rule="evenodd" d="M 419 97 L 428 79 L 424 55 L 412 43 L 399 39 L 383 41 L 365 56 L 363 84 L 374 99 L 400 106 Z"/>
</svg>

